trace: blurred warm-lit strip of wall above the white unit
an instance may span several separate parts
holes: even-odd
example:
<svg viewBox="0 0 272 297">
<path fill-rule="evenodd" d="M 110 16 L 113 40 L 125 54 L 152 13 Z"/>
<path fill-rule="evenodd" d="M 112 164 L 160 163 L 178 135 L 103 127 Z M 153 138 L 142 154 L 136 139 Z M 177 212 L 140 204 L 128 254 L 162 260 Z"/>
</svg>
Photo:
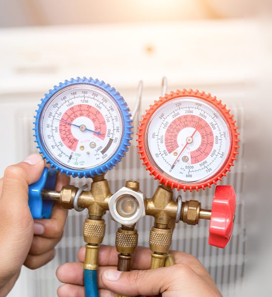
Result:
<svg viewBox="0 0 272 297">
<path fill-rule="evenodd" d="M 0 26 L 180 21 L 252 16 L 269 0 L 0 0 Z"/>
</svg>

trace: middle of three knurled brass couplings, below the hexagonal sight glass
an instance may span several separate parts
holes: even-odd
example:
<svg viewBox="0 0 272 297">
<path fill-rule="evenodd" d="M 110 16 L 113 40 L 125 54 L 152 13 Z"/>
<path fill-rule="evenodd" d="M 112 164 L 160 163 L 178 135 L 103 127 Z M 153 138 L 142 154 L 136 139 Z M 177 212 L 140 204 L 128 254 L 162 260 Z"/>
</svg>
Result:
<svg viewBox="0 0 272 297">
<path fill-rule="evenodd" d="M 134 253 L 137 244 L 137 230 L 123 230 L 122 228 L 118 228 L 115 238 L 115 246 L 118 252 L 127 254 Z"/>
</svg>

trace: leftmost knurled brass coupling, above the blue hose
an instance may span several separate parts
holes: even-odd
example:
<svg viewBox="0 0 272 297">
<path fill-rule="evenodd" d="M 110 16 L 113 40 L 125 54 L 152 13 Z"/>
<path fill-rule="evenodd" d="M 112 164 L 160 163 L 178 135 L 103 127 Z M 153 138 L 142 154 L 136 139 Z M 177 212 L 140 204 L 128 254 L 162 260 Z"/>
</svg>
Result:
<svg viewBox="0 0 272 297">
<path fill-rule="evenodd" d="M 84 241 L 88 244 L 101 244 L 105 235 L 105 221 L 86 219 L 83 225 Z"/>
</svg>

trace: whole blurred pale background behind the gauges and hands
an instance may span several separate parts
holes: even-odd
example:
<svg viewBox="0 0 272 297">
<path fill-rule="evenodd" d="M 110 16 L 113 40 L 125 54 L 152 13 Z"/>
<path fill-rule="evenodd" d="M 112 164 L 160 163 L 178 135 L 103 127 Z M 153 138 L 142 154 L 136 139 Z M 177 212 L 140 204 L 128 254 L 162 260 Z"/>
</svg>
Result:
<svg viewBox="0 0 272 297">
<path fill-rule="evenodd" d="M 180 223 L 172 248 L 197 256 L 224 297 L 272 296 L 270 6 L 258 0 L 0 0 L 0 175 L 36 150 L 36 106 L 60 81 L 104 80 L 133 109 L 142 80 L 141 110 L 161 96 L 164 76 L 169 92 L 205 90 L 232 109 L 240 127 L 240 155 L 224 180 L 237 195 L 233 237 L 224 250 L 210 247 L 207 222 Z M 135 143 L 107 178 L 112 191 L 136 179 L 150 197 L 157 182 L 141 166 Z M 182 197 L 210 207 L 213 193 Z M 70 211 L 55 259 L 36 271 L 23 268 L 9 297 L 56 296 L 55 270 L 76 260 L 86 215 Z M 106 223 L 104 242 L 113 245 L 117 224 L 107 215 Z M 138 224 L 139 245 L 148 246 L 151 226 L 150 218 Z"/>
</svg>

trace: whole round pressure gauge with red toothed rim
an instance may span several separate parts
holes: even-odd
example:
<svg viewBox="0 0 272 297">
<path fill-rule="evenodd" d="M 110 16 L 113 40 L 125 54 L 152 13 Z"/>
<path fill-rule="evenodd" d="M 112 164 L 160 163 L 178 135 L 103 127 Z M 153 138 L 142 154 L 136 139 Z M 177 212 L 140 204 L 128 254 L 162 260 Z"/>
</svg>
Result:
<svg viewBox="0 0 272 297">
<path fill-rule="evenodd" d="M 233 165 L 236 127 L 221 101 L 172 93 L 147 111 L 139 127 L 141 158 L 161 183 L 184 191 L 217 183 Z"/>
</svg>

